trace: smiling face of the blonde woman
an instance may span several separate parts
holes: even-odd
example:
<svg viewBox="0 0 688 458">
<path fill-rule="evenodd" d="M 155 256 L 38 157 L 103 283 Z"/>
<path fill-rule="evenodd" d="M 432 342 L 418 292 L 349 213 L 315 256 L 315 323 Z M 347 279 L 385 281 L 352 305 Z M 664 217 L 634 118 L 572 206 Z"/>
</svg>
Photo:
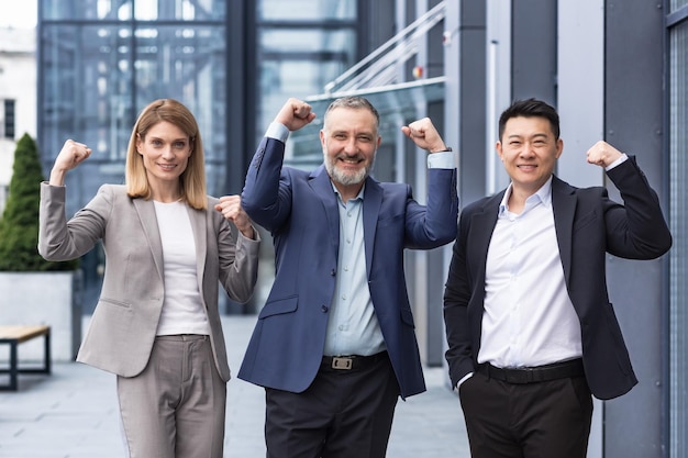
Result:
<svg viewBox="0 0 688 458">
<path fill-rule="evenodd" d="M 160 194 L 178 198 L 179 177 L 187 169 L 191 156 L 189 136 L 177 125 L 160 121 L 144 137 L 136 139 L 136 150 L 143 158 L 154 199 L 166 200 L 160 199 Z"/>
</svg>

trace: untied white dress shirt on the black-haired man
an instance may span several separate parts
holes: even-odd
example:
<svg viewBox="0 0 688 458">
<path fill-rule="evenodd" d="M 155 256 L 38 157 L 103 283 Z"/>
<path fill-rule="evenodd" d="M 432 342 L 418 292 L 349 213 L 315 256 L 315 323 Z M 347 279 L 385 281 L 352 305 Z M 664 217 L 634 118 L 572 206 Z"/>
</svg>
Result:
<svg viewBox="0 0 688 458">
<path fill-rule="evenodd" d="M 554 227 L 552 178 L 509 211 L 499 205 L 487 254 L 478 362 L 534 367 L 582 356 L 580 324 L 568 297 Z"/>
</svg>

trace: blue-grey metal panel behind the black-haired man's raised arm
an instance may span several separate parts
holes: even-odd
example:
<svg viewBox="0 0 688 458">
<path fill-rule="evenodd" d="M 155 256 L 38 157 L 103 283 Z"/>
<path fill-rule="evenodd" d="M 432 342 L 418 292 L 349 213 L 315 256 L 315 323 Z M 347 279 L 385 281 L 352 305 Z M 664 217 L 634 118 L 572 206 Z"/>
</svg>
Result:
<svg viewBox="0 0 688 458">
<path fill-rule="evenodd" d="M 664 182 L 664 20 L 661 1 L 606 2 L 606 139 L 637 157 L 668 209 Z M 610 185 L 611 187 L 611 185 Z M 615 189 L 612 197 L 619 199 Z M 666 213 L 665 213 L 666 214 Z M 666 258 L 666 257 L 665 257 Z M 667 378 L 666 259 L 631 261 L 610 257 L 610 297 L 640 383 L 604 410 L 604 456 L 666 457 Z"/>
</svg>

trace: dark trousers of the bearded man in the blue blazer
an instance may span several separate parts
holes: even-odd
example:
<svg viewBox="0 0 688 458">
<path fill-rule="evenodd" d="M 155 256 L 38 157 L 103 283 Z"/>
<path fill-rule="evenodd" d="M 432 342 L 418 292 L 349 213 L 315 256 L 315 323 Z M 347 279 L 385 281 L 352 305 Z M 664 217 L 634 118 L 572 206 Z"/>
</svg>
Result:
<svg viewBox="0 0 688 458">
<path fill-rule="evenodd" d="M 360 369 L 321 367 L 302 393 L 266 389 L 268 458 L 384 458 L 399 384 L 385 355 Z"/>
</svg>

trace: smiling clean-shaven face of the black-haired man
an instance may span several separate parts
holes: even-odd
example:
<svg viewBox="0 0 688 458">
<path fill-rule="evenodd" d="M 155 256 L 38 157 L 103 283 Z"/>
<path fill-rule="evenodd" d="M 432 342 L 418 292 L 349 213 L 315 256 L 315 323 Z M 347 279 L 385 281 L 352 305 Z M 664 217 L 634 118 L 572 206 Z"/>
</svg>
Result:
<svg viewBox="0 0 688 458">
<path fill-rule="evenodd" d="M 507 121 L 497 142 L 497 154 L 504 165 L 513 191 L 532 196 L 550 179 L 564 143 L 556 138 L 546 118 L 515 116 Z"/>
</svg>

